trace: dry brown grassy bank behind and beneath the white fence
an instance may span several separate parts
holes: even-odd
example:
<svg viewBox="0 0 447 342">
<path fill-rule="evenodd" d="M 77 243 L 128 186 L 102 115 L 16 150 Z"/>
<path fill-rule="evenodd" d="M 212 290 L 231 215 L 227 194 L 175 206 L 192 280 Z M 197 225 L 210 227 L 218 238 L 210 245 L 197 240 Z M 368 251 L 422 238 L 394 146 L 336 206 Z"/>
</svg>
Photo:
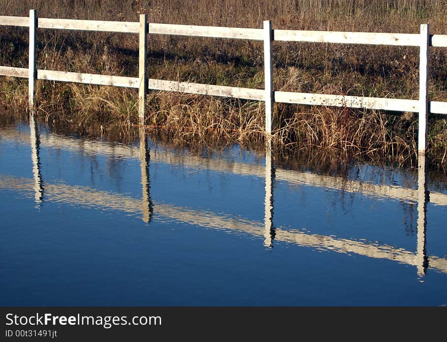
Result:
<svg viewBox="0 0 447 342">
<path fill-rule="evenodd" d="M 138 21 L 261 28 L 446 34 L 445 1 L 22 1 L 0 0 L 1 15 Z M 38 68 L 138 75 L 137 35 L 38 30 Z M 0 26 L 0 65 L 26 67 L 27 30 Z M 430 99 L 447 100 L 446 49 L 431 49 Z M 411 47 L 349 46 L 275 42 L 274 87 L 283 91 L 418 98 L 419 50 Z M 149 37 L 151 78 L 249 88 L 264 87 L 261 42 Z M 8 111 L 26 110 L 26 80 L 0 77 L 0 103 Z M 69 125 L 96 135 L 100 125 L 138 122 L 133 89 L 39 81 L 38 115 L 54 125 Z M 264 109 L 259 102 L 200 95 L 150 92 L 147 128 L 178 144 L 257 146 L 264 138 Z M 447 167 L 447 121 L 429 120 L 432 166 Z M 313 150 L 339 157 L 390 159 L 414 163 L 417 114 L 359 111 L 276 104 L 277 150 Z"/>
</svg>

